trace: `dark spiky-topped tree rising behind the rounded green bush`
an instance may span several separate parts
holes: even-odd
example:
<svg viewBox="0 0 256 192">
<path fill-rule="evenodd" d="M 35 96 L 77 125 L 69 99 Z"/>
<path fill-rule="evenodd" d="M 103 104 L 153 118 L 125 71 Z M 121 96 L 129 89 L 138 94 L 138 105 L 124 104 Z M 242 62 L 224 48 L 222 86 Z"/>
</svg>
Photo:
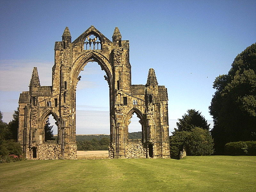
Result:
<svg viewBox="0 0 256 192">
<path fill-rule="evenodd" d="M 207 124 L 201 112 L 199 113 L 195 109 L 189 109 L 187 112 L 188 114 L 184 114 L 181 119 L 178 119 L 177 131 L 191 131 L 195 127 L 209 130 L 210 124 Z"/>
</svg>

